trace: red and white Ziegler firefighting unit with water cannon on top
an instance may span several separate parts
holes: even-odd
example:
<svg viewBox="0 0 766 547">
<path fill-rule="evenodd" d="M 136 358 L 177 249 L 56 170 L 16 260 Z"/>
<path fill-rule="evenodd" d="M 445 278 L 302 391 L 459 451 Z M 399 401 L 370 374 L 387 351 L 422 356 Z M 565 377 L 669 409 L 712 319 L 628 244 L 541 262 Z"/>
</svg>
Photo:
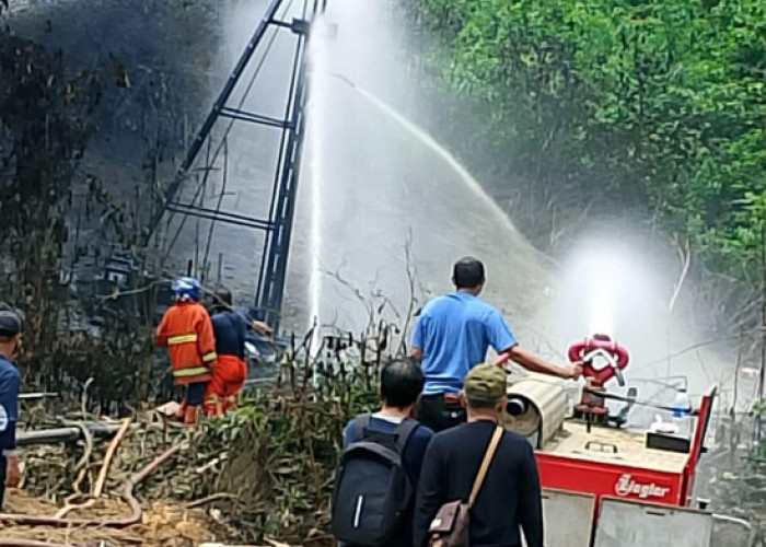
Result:
<svg viewBox="0 0 766 547">
<path fill-rule="evenodd" d="M 594 352 L 608 356 L 606 366 L 596 370 L 589 364 Z M 569 358 L 584 361 L 591 387 L 602 389 L 612 377 L 624 383 L 622 372 L 629 361 L 627 350 L 616 341 L 595 336 L 572 345 Z M 715 386 L 688 418 L 695 421 L 694 433 L 684 442 L 663 433 L 593 422 L 592 416 L 577 410 L 576 417 L 567 417 L 565 388 L 550 379 L 511 380 L 508 396 L 523 411 L 506 414 L 503 424 L 527 437 L 535 447 L 547 547 L 716 545 L 712 513 L 690 507 Z M 583 404 L 592 412 L 591 401 L 582 399 L 576 409 Z"/>
</svg>

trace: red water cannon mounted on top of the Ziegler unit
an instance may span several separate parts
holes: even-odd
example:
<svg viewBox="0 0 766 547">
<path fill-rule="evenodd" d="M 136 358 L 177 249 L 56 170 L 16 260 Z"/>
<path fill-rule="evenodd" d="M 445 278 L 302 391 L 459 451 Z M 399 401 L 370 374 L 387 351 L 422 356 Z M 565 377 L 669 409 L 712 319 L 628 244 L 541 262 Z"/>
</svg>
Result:
<svg viewBox="0 0 766 547">
<path fill-rule="evenodd" d="M 594 335 L 569 346 L 568 356 L 572 362 L 582 362 L 582 375 L 589 384 L 589 391 L 582 392 L 580 404 L 574 407 L 576 416 L 593 415 L 600 421 L 605 420 L 608 409 L 604 398 L 592 392 L 604 392 L 604 384 L 613 377 L 620 387 L 625 385 L 623 370 L 630 361 L 628 350 L 606 335 Z M 607 364 L 595 368 L 593 360 L 597 357 L 605 359 Z"/>
</svg>

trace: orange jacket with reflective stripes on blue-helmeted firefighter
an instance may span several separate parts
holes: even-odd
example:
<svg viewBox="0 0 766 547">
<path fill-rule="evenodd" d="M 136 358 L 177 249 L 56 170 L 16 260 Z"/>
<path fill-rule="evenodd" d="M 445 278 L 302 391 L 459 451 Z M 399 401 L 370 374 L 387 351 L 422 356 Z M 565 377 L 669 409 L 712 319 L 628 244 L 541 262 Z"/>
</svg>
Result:
<svg viewBox="0 0 766 547">
<path fill-rule="evenodd" d="M 176 384 L 190 386 L 210 382 L 217 360 L 216 339 L 212 322 L 202 304 L 177 302 L 171 306 L 156 329 L 155 341 L 169 349 Z"/>
</svg>

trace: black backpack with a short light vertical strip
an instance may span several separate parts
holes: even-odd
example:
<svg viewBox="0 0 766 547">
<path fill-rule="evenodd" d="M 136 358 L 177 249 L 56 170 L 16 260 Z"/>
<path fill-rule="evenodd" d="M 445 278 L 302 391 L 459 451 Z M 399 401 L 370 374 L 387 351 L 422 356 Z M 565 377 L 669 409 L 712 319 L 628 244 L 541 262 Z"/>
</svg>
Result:
<svg viewBox="0 0 766 547">
<path fill-rule="evenodd" d="M 415 492 L 402 452 L 419 426 L 405 418 L 386 433 L 372 430 L 371 419 L 369 414 L 355 419 L 355 441 L 340 456 L 333 491 L 333 534 L 363 547 L 385 545 L 401 529 Z"/>
</svg>

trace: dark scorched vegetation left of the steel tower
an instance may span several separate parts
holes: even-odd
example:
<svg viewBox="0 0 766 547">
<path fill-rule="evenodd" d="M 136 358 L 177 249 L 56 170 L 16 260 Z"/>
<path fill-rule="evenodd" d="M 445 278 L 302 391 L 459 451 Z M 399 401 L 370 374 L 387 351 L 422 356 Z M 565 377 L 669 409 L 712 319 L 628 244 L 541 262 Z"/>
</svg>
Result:
<svg viewBox="0 0 766 547">
<path fill-rule="evenodd" d="M 214 38 L 193 36 L 214 26 L 216 4 L 23 8 L 0 1 L 0 300 L 25 314 L 28 384 L 88 385 L 104 411 L 125 410 L 152 391 L 151 325 L 143 301 L 107 300 L 113 287 L 90 279 L 114 249 L 135 249 L 151 212 L 137 196 L 172 172 L 188 113 L 207 107 Z"/>
</svg>

